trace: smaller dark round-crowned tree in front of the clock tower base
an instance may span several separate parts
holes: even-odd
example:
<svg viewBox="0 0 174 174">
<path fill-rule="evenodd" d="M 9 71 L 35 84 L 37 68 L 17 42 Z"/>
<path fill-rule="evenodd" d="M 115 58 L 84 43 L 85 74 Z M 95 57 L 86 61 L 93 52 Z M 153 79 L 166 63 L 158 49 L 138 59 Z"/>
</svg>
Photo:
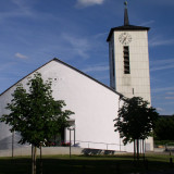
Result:
<svg viewBox="0 0 174 174">
<path fill-rule="evenodd" d="M 139 139 L 145 140 L 149 137 L 157 119 L 158 113 L 154 108 L 149 107 L 148 101 L 140 97 L 124 99 L 119 115 L 114 120 L 116 121 L 114 126 L 116 127 L 115 132 L 119 132 L 123 138 L 124 145 L 134 141 L 134 158 L 137 154 L 136 157 L 139 159 Z"/>
</svg>

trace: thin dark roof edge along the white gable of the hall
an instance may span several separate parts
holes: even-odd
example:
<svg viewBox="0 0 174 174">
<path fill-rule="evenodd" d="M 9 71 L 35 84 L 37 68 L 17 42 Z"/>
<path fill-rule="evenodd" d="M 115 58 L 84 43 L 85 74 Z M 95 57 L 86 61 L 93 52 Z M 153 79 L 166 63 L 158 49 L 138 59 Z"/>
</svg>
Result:
<svg viewBox="0 0 174 174">
<path fill-rule="evenodd" d="M 77 69 L 71 66 L 70 64 L 67 64 L 67 63 L 65 63 L 65 62 L 63 62 L 63 61 L 61 61 L 61 60 L 59 60 L 59 59 L 57 59 L 57 58 L 50 60 L 49 62 L 45 63 L 45 64 L 41 65 L 40 67 L 38 67 L 38 69 L 36 69 L 35 71 L 33 71 L 32 73 L 29 73 L 28 75 L 24 76 L 22 79 L 20 79 L 20 80 L 16 82 L 14 85 L 12 85 L 12 86 L 9 87 L 7 90 L 4 90 L 2 94 L 0 94 L 0 96 L 2 96 L 3 94 L 5 94 L 9 89 L 11 89 L 12 87 L 14 87 L 16 84 L 21 83 L 24 78 L 28 77 L 29 75 L 32 75 L 33 73 L 37 72 L 39 69 L 46 66 L 47 64 L 49 64 L 49 63 L 52 62 L 52 61 L 59 62 L 59 63 L 61 63 L 61 64 L 63 64 L 63 65 L 65 65 L 65 66 L 67 66 L 67 67 L 70 67 L 70 69 L 76 71 L 77 73 L 79 73 L 79 74 L 82 74 L 82 75 L 84 75 L 84 76 L 90 78 L 91 80 L 98 83 L 99 85 L 102 85 L 103 87 L 108 88 L 109 90 L 112 90 L 113 92 L 117 94 L 120 97 L 123 97 L 122 94 L 115 91 L 114 89 L 110 88 L 109 86 L 107 86 L 107 85 L 100 83 L 99 80 L 95 79 L 94 77 L 91 77 L 91 76 L 85 74 L 84 72 L 82 72 L 82 71 L 79 71 L 79 70 L 77 70 Z"/>
</svg>

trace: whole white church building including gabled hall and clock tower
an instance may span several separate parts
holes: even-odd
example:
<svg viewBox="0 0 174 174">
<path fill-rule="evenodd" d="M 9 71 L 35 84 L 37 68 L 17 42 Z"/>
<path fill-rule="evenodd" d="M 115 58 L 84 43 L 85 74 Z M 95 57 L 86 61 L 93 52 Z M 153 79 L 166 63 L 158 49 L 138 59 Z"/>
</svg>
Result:
<svg viewBox="0 0 174 174">
<path fill-rule="evenodd" d="M 7 103 L 11 102 L 16 85 L 27 88 L 28 77 L 41 73 L 45 80 L 52 78 L 52 96 L 64 100 L 67 110 L 75 114 L 69 120 L 73 127 L 72 145 L 80 148 L 133 151 L 133 145 L 124 146 L 120 134 L 114 132 L 113 120 L 122 105 L 122 97 L 142 97 L 151 102 L 149 53 L 149 27 L 130 25 L 125 2 L 124 25 L 111 28 L 109 42 L 110 87 L 82 71 L 53 59 L 32 72 L 0 95 L 0 115 L 8 114 Z M 70 141 L 70 129 L 62 133 L 63 140 Z M 20 135 L 14 134 L 14 147 Z M 0 150 L 10 149 L 12 133 L 0 123 Z M 152 138 L 146 140 L 146 150 L 153 150 Z"/>
</svg>

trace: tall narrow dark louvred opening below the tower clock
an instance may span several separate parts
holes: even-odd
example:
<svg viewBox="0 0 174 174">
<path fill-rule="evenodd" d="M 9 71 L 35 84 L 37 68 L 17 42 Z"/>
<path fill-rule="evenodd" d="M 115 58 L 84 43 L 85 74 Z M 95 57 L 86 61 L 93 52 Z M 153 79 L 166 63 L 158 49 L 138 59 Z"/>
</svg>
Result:
<svg viewBox="0 0 174 174">
<path fill-rule="evenodd" d="M 129 72 L 129 48 L 128 48 L 128 46 L 123 47 L 123 58 L 124 58 L 124 74 L 130 74 L 130 72 Z"/>
</svg>

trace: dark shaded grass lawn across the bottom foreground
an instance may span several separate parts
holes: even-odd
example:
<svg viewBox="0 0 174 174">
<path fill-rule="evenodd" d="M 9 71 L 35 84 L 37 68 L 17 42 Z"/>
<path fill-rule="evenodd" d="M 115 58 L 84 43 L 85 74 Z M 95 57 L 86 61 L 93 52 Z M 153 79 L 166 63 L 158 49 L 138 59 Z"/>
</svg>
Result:
<svg viewBox="0 0 174 174">
<path fill-rule="evenodd" d="M 174 156 L 171 156 L 174 158 Z M 123 174 L 172 170 L 169 154 L 147 154 L 148 162 L 134 162 L 132 154 L 122 156 L 45 156 L 42 174 Z M 30 157 L 0 158 L 0 174 L 30 174 Z M 39 159 L 37 173 L 39 174 Z"/>
</svg>

